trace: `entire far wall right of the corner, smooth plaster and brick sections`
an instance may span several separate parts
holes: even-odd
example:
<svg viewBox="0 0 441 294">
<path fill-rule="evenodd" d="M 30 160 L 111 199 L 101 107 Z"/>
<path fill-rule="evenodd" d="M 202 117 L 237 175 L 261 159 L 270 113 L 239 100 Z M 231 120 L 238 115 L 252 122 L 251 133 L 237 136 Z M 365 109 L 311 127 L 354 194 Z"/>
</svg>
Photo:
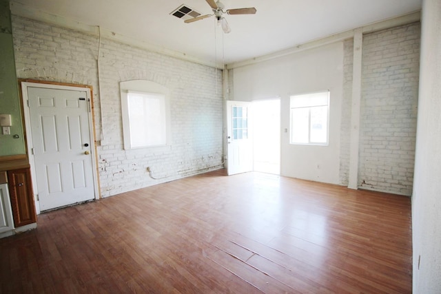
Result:
<svg viewBox="0 0 441 294">
<path fill-rule="evenodd" d="M 353 39 L 230 70 L 230 98 L 280 96 L 283 176 L 349 185 L 351 174 L 354 188 L 410 196 L 420 24 L 364 34 L 361 46 L 355 61 L 361 74 L 356 79 L 359 112 L 352 111 Z M 326 89 L 331 90 L 329 146 L 290 145 L 289 132 L 284 132 L 289 129 L 289 95 Z M 355 156 L 351 151 L 357 151 Z"/>
</svg>

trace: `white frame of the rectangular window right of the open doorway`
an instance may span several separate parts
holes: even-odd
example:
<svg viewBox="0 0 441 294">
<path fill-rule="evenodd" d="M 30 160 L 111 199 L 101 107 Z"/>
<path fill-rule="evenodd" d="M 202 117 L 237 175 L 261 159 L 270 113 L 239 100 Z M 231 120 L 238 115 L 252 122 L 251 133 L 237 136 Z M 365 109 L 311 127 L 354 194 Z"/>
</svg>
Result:
<svg viewBox="0 0 441 294">
<path fill-rule="evenodd" d="M 314 103 L 311 103 L 311 101 L 306 102 L 303 101 L 304 105 L 302 106 L 296 106 L 293 107 L 293 100 L 294 99 L 298 99 L 302 96 L 304 96 L 304 98 L 311 98 L 314 95 L 324 95 L 327 94 L 326 97 L 326 103 L 321 103 L 321 104 L 316 104 L 314 105 Z M 329 146 L 329 113 L 330 113 L 330 97 L 331 97 L 331 93 L 329 90 L 326 91 L 318 91 L 318 92 L 308 92 L 305 94 L 295 94 L 295 95 L 290 95 L 289 96 L 289 144 L 290 145 L 310 145 L 310 146 Z M 321 142 L 314 142 L 311 141 L 311 109 L 313 108 L 317 108 L 317 107 L 327 107 L 326 110 L 326 142 L 321 143 Z M 293 127 L 293 110 L 294 109 L 308 109 L 308 127 L 307 127 L 307 136 L 308 136 L 308 142 L 307 143 L 300 143 L 300 142 L 293 142 L 293 132 L 294 132 L 294 127 Z"/>
</svg>

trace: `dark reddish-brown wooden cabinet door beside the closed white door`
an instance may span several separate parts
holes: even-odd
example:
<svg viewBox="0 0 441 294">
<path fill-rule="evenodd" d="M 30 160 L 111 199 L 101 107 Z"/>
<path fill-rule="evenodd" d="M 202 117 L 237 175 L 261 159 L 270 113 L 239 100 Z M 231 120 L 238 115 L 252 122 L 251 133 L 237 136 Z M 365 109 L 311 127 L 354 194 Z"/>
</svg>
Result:
<svg viewBox="0 0 441 294">
<path fill-rule="evenodd" d="M 30 169 L 8 171 L 8 182 L 15 227 L 37 222 Z"/>
</svg>

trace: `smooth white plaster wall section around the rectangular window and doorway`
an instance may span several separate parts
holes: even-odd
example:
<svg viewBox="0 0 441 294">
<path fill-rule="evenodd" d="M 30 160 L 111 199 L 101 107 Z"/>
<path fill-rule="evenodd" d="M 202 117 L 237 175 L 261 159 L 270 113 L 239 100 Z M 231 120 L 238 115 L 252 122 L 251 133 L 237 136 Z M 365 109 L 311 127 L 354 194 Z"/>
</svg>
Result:
<svg viewBox="0 0 441 294">
<path fill-rule="evenodd" d="M 281 99 L 283 176 L 339 184 L 343 43 L 234 69 L 234 100 Z M 329 146 L 289 144 L 289 96 L 330 90 Z"/>
</svg>

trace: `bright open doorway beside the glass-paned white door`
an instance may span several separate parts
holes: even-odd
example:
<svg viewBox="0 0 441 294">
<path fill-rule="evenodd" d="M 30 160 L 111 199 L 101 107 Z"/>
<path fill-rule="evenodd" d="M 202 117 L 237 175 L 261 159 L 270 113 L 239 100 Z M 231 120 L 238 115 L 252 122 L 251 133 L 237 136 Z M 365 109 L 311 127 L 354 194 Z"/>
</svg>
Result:
<svg viewBox="0 0 441 294">
<path fill-rule="evenodd" d="M 280 99 L 253 101 L 254 171 L 280 175 Z"/>
</svg>

